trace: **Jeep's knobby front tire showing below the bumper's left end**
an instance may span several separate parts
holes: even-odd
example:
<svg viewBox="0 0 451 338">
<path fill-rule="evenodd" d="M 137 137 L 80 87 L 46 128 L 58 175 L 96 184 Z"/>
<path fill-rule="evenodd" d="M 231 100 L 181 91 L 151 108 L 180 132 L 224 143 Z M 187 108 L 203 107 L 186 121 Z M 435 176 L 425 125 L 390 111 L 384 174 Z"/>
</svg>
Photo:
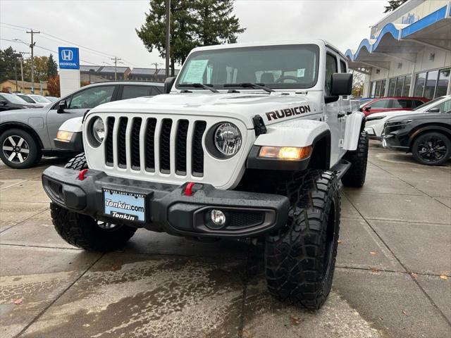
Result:
<svg viewBox="0 0 451 338">
<path fill-rule="evenodd" d="M 102 229 L 94 218 L 50 204 L 51 220 L 56 232 L 69 244 L 88 251 L 113 251 L 125 245 L 136 232 L 135 227 L 117 225 Z"/>
</svg>

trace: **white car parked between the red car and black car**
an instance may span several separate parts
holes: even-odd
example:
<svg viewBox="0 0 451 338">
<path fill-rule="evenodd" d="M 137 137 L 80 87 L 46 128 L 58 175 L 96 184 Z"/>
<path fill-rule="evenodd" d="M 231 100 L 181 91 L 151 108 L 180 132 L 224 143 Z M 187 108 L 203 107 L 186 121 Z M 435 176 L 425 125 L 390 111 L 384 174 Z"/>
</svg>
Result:
<svg viewBox="0 0 451 338">
<path fill-rule="evenodd" d="M 451 109 L 451 95 L 440 96 L 435 100 L 428 101 L 412 111 L 383 111 L 373 113 L 365 120 L 365 130 L 370 139 L 382 139 L 383 125 L 388 119 L 395 116 L 412 113 L 443 113 Z"/>
</svg>

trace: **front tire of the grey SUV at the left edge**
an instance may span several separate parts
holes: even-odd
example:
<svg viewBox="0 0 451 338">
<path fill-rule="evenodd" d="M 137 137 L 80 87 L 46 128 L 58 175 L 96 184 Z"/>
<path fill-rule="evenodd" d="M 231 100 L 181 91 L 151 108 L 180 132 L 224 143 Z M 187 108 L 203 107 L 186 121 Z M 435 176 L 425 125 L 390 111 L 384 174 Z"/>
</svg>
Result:
<svg viewBox="0 0 451 338">
<path fill-rule="evenodd" d="M 6 157 L 3 147 L 4 145 L 11 146 L 11 144 L 4 144 L 8 137 L 13 137 L 13 139 L 16 140 L 21 138 L 23 139 L 23 146 L 25 146 L 25 144 L 27 145 L 27 157 L 22 163 L 17 161 L 9 161 L 8 157 Z M 25 153 L 23 153 L 23 155 L 25 156 Z M 0 158 L 3 163 L 8 165 L 8 167 L 15 169 L 26 169 L 32 167 L 33 165 L 36 165 L 39 161 L 41 161 L 42 151 L 39 146 L 39 142 L 37 142 L 37 139 L 35 139 L 35 137 L 33 137 L 30 133 L 21 129 L 9 129 L 0 135 Z M 15 158 L 13 158 L 13 160 L 15 159 L 18 159 L 18 156 L 15 156 Z"/>
</svg>

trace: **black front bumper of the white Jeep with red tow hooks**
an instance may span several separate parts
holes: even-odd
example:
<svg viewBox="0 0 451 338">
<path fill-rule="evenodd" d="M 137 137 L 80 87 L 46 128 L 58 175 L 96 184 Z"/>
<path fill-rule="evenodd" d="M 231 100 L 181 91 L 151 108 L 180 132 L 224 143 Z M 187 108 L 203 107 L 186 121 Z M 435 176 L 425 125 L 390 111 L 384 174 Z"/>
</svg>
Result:
<svg viewBox="0 0 451 338">
<path fill-rule="evenodd" d="M 194 184 L 192 196 L 187 183 L 177 186 L 113 177 L 88 170 L 85 180 L 78 171 L 51 166 L 42 173 L 42 185 L 50 199 L 71 211 L 97 220 L 123 223 L 149 230 L 191 237 L 256 237 L 285 225 L 290 203 L 286 196 L 220 190 L 211 184 Z M 105 213 L 104 189 L 145 196 L 145 221 L 113 218 Z M 212 209 L 226 214 L 226 224 L 215 226 Z"/>
</svg>

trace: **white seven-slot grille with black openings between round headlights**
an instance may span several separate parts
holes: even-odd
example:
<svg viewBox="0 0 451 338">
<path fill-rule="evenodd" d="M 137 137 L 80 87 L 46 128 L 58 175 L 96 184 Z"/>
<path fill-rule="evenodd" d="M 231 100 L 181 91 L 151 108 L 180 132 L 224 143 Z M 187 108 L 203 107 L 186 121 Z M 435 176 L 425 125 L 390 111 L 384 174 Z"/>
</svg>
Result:
<svg viewBox="0 0 451 338">
<path fill-rule="evenodd" d="M 105 163 L 112 167 L 116 160 L 119 168 L 202 177 L 205 129 L 203 120 L 109 117 L 106 119 Z M 173 133 L 175 142 L 171 145 Z M 191 161 L 188 161 L 188 154 L 191 154 Z"/>
</svg>

